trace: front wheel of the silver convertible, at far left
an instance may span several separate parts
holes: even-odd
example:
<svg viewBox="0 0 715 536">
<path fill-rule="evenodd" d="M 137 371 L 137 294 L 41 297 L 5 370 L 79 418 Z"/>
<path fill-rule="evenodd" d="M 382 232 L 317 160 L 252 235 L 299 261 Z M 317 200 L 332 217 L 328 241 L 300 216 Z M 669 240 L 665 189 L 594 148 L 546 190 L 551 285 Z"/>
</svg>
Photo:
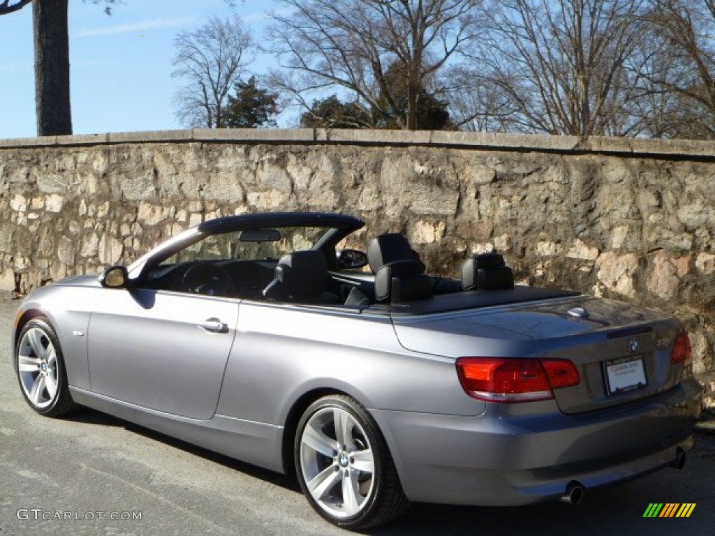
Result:
<svg viewBox="0 0 715 536">
<path fill-rule="evenodd" d="M 77 410 L 79 405 L 69 392 L 59 339 L 46 317 L 36 317 L 24 325 L 13 361 L 20 391 L 29 407 L 46 417 Z"/>
</svg>

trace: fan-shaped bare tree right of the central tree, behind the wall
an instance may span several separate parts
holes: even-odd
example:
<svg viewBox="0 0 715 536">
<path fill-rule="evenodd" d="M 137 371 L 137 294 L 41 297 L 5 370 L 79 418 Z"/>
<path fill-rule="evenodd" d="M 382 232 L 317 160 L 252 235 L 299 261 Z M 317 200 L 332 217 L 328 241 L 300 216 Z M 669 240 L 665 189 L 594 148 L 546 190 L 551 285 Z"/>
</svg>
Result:
<svg viewBox="0 0 715 536">
<path fill-rule="evenodd" d="M 486 15 L 490 37 L 474 57 L 483 77 L 516 109 L 523 131 L 626 134 L 634 98 L 626 63 L 639 39 L 645 0 L 503 0 Z M 627 126 L 630 128 L 630 125 Z"/>
</svg>

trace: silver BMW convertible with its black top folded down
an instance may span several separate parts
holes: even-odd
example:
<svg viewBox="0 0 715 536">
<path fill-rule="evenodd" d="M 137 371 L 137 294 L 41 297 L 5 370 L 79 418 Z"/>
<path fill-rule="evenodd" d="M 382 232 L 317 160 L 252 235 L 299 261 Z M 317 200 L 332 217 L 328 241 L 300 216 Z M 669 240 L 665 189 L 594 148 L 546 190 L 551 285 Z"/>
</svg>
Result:
<svg viewBox="0 0 715 536">
<path fill-rule="evenodd" d="M 37 289 L 12 333 L 21 392 L 294 473 L 351 530 L 410 501 L 576 503 L 684 464 L 701 387 L 674 317 L 515 285 L 495 253 L 440 278 L 402 234 L 343 249 L 364 225 L 214 219 Z"/>
</svg>

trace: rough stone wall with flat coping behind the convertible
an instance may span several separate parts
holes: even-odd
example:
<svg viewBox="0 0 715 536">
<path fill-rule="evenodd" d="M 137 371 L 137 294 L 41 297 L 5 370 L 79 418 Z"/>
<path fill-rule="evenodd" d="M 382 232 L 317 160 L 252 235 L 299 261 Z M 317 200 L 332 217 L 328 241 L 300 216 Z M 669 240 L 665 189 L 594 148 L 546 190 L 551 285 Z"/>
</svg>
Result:
<svg viewBox="0 0 715 536">
<path fill-rule="evenodd" d="M 129 262 L 228 214 L 348 212 L 433 272 L 498 250 L 518 279 L 677 314 L 715 402 L 715 144 L 399 131 L 188 130 L 0 141 L 0 288 Z"/>
</svg>

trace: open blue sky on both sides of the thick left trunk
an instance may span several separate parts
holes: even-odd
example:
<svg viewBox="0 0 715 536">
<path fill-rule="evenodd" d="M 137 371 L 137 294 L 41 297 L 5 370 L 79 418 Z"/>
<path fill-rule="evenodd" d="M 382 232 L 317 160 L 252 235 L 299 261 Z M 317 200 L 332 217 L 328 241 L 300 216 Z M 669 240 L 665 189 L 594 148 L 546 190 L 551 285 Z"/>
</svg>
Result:
<svg viewBox="0 0 715 536">
<path fill-rule="evenodd" d="M 102 6 L 69 2 L 69 54 L 74 134 L 182 128 L 174 117 L 174 36 L 209 16 L 235 11 L 260 39 L 272 0 L 124 0 L 112 16 Z M 260 74 L 270 58 L 249 70 Z M 0 139 L 36 135 L 32 13 L 0 16 Z M 290 126 L 290 125 L 282 125 Z"/>
</svg>

